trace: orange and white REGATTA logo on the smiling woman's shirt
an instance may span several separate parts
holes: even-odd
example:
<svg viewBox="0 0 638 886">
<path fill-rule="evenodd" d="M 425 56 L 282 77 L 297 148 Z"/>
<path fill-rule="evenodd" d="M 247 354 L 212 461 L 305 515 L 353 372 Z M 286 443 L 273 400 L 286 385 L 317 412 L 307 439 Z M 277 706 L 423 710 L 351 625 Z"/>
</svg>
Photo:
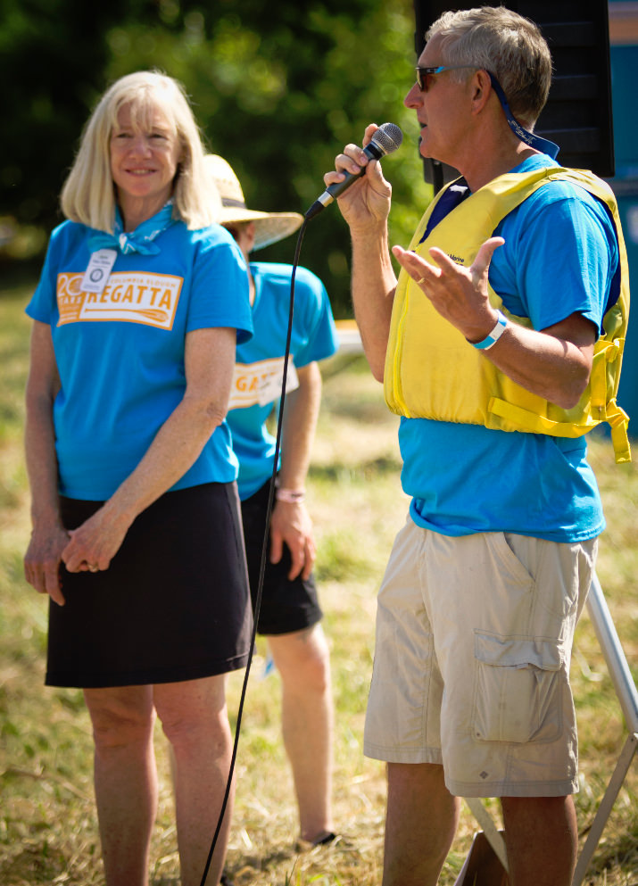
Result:
<svg viewBox="0 0 638 886">
<path fill-rule="evenodd" d="M 83 274 L 58 274 L 58 326 L 80 320 L 124 320 L 173 327 L 183 277 L 128 271 L 112 274 L 102 293 L 82 291 Z"/>
</svg>

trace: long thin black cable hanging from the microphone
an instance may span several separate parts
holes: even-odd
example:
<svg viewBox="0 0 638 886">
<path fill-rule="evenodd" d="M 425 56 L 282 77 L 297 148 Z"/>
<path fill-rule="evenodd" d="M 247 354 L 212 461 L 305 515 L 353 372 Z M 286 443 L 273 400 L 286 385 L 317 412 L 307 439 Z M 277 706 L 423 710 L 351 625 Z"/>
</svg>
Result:
<svg viewBox="0 0 638 886">
<path fill-rule="evenodd" d="M 228 807 L 228 799 L 230 797 L 230 789 L 233 783 L 233 775 L 235 774 L 235 765 L 237 758 L 237 748 L 239 745 L 239 733 L 241 730 L 242 724 L 242 716 L 244 714 L 244 702 L 246 697 L 246 691 L 248 689 L 248 678 L 251 672 L 251 665 L 253 664 L 253 653 L 255 647 L 255 638 L 257 635 L 257 625 L 259 623 L 259 613 L 261 609 L 261 594 L 263 591 L 263 579 L 266 571 L 266 556 L 268 554 L 268 537 L 269 537 L 269 529 L 270 529 L 270 517 L 272 515 L 272 506 L 273 501 L 275 499 L 275 484 L 278 475 L 278 464 L 279 464 L 279 451 L 281 450 L 281 433 L 283 428 L 283 416 L 284 416 L 284 407 L 286 405 L 286 381 L 288 377 L 288 359 L 290 357 L 290 342 L 293 334 L 293 314 L 294 314 L 294 277 L 297 272 L 297 265 L 299 264 L 299 255 L 302 250 L 302 241 L 303 235 L 305 234 L 306 226 L 308 225 L 309 219 L 303 219 L 302 227 L 299 230 L 299 234 L 297 236 L 297 244 L 294 248 L 294 260 L 293 260 L 293 273 L 290 277 L 290 305 L 288 310 L 288 327 L 286 332 L 286 352 L 284 353 L 284 377 L 281 383 L 281 397 L 279 399 L 279 414 L 277 419 L 277 437 L 275 441 L 275 458 L 272 466 L 272 475 L 270 476 L 269 482 L 269 496 L 268 496 L 268 506 L 266 509 L 266 526 L 264 527 L 263 534 L 263 542 L 261 544 L 261 564 L 260 564 L 260 574 L 259 574 L 259 582 L 257 584 L 257 593 L 255 594 L 255 602 L 253 607 L 253 633 L 251 634 L 251 643 L 250 648 L 248 650 L 248 662 L 246 663 L 246 670 L 244 674 L 244 682 L 242 683 L 242 691 L 239 699 L 239 707 L 237 708 L 237 720 L 235 726 L 235 740 L 233 741 L 233 752 L 230 758 L 230 767 L 228 769 L 228 781 L 226 782 L 226 791 L 224 791 L 224 799 L 221 803 L 220 816 L 217 821 L 217 826 L 215 828 L 215 832 L 213 834 L 211 840 L 211 849 L 209 849 L 208 857 L 206 859 L 206 865 L 203 869 L 203 876 L 200 882 L 200 886 L 205 886 L 206 877 L 208 876 L 208 872 L 211 868 L 212 856 L 214 854 L 215 848 L 217 847 L 217 841 L 220 837 L 221 826 L 224 821 L 224 816 L 226 814 L 226 809 Z"/>
</svg>

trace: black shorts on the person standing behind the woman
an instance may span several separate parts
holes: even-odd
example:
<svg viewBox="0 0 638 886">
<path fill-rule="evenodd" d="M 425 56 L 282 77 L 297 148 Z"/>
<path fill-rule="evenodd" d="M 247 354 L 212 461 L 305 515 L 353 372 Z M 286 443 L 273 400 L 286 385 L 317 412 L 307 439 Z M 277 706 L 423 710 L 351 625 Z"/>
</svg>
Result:
<svg viewBox="0 0 638 886">
<path fill-rule="evenodd" d="M 261 546 L 266 526 L 268 498 L 269 483 L 261 486 L 261 489 L 257 490 L 249 499 L 242 501 L 244 540 L 253 606 L 259 584 Z M 297 576 L 291 582 L 288 578 L 290 562 L 290 551 L 286 545 L 284 545 L 284 553 L 279 562 L 270 562 L 269 534 L 261 607 L 257 622 L 259 633 L 279 634 L 302 631 L 304 628 L 316 625 L 321 620 L 323 613 L 319 607 L 317 588 L 312 575 L 305 581 L 301 576 Z"/>
</svg>

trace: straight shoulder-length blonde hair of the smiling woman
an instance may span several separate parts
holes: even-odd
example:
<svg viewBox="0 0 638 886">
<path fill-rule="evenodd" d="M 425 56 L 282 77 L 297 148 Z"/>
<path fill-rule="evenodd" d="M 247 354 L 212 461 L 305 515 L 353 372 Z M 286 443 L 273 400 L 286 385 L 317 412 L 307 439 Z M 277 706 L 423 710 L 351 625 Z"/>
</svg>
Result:
<svg viewBox="0 0 638 886">
<path fill-rule="evenodd" d="M 221 200 L 203 166 L 203 144 L 186 93 L 177 80 L 141 70 L 112 84 L 87 120 L 79 151 L 64 186 L 62 212 L 67 219 L 113 233 L 115 188 L 110 141 L 118 113 L 129 105 L 134 126 L 144 126 L 153 111 L 162 112 L 178 138 L 180 157 L 173 186 L 173 217 L 197 230 L 217 221 Z"/>
</svg>

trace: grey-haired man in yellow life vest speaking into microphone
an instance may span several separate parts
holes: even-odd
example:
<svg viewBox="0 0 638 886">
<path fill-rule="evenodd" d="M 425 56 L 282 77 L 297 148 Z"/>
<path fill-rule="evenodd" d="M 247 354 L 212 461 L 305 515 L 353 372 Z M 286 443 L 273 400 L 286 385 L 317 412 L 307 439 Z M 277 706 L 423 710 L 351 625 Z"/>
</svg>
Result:
<svg viewBox="0 0 638 886">
<path fill-rule="evenodd" d="M 461 797 L 501 799 L 512 886 L 568 886 L 569 658 L 605 526 L 584 434 L 606 418 L 629 459 L 625 247 L 609 186 L 534 136 L 551 82 L 536 26 L 484 7 L 444 13 L 426 38 L 404 104 L 420 153 L 462 178 L 409 251 L 394 246 L 398 280 L 380 163 L 347 145 L 324 177 L 365 171 L 338 203 L 411 497 L 378 596 L 364 740 L 388 765 L 384 886 L 434 886 Z"/>
</svg>

